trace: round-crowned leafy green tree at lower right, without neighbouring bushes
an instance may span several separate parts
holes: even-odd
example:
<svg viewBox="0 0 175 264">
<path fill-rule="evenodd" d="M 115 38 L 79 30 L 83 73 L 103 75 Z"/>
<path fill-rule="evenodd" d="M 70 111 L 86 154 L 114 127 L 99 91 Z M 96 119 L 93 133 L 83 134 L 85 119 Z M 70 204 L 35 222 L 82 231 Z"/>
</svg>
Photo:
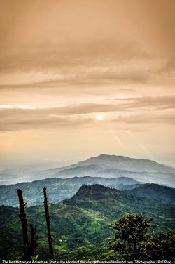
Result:
<svg viewBox="0 0 175 264">
<path fill-rule="evenodd" d="M 142 243 L 150 239 L 148 228 L 153 228 L 151 225 L 153 218 L 147 220 L 144 216 L 137 213 L 126 214 L 118 218 L 112 227 L 116 230 L 116 237 L 109 242 L 109 248 L 113 251 L 126 255 L 137 256 L 141 251 Z M 124 257 L 125 258 L 125 257 Z"/>
</svg>

